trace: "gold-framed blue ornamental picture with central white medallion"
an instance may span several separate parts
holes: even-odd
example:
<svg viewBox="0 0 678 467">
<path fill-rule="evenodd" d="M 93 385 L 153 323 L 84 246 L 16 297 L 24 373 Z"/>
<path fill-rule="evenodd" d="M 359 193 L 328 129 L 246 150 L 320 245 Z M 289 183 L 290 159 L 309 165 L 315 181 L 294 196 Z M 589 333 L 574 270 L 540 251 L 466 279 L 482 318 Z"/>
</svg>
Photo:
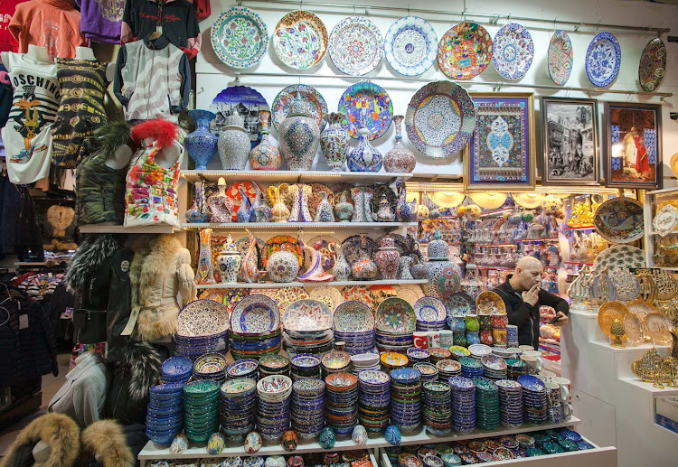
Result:
<svg viewBox="0 0 678 467">
<path fill-rule="evenodd" d="M 476 131 L 464 153 L 464 188 L 533 188 L 536 175 L 532 93 L 470 93 Z"/>
</svg>

